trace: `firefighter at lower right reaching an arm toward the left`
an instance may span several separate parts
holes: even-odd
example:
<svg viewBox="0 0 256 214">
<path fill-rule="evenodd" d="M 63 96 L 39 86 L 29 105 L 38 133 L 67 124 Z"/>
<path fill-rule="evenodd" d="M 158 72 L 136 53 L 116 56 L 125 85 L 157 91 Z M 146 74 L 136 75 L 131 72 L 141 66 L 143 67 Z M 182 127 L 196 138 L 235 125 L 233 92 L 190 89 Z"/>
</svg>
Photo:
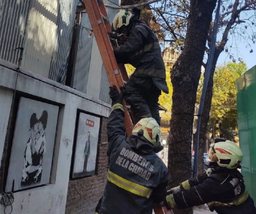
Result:
<svg viewBox="0 0 256 214">
<path fill-rule="evenodd" d="M 207 203 L 218 214 L 256 214 L 243 176 L 238 171 L 243 153 L 234 142 L 210 145 L 207 172 L 172 188 L 166 197 L 169 208 L 184 209 Z"/>
</svg>

